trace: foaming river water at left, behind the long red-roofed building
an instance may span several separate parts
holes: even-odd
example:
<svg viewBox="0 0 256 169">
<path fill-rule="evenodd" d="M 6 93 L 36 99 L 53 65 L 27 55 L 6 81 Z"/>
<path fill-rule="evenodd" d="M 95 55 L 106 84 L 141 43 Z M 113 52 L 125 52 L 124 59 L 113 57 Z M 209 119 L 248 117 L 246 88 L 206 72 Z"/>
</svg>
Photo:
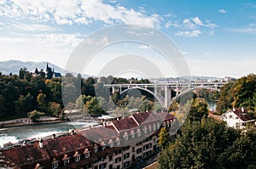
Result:
<svg viewBox="0 0 256 169">
<path fill-rule="evenodd" d="M 62 122 L 50 124 L 35 124 L 21 127 L 6 127 L 0 129 L 0 146 L 3 144 L 18 143 L 26 138 L 43 138 L 59 132 L 68 132 L 69 129 L 79 129 L 96 125 L 96 122 Z"/>
</svg>

